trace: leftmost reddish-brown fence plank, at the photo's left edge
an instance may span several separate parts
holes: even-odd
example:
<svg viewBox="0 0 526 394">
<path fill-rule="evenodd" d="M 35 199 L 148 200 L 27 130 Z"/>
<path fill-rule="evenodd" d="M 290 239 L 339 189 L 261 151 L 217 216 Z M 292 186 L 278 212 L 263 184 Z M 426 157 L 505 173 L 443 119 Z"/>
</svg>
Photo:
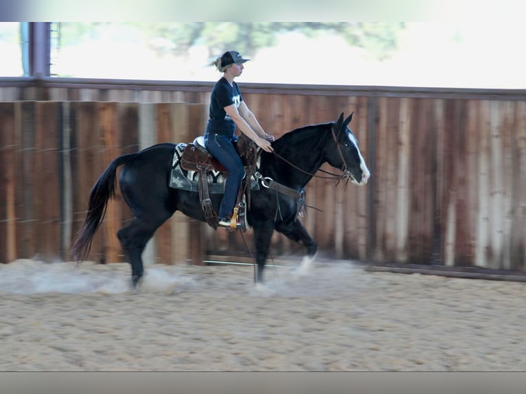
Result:
<svg viewBox="0 0 526 394">
<path fill-rule="evenodd" d="M 16 150 L 13 103 L 0 103 L 0 263 L 16 259 Z"/>
</svg>

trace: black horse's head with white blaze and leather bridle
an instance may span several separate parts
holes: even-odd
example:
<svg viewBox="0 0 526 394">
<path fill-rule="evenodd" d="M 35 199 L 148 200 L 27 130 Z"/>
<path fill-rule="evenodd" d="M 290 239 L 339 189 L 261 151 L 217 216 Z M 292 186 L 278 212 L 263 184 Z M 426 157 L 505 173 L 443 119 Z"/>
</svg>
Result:
<svg viewBox="0 0 526 394">
<path fill-rule="evenodd" d="M 332 124 L 332 137 L 325 157 L 332 167 L 343 171 L 343 178 L 350 178 L 356 185 L 365 185 L 371 173 L 358 148 L 358 140 L 349 128 L 352 115 L 354 112 L 343 120 L 341 113 L 339 119 Z"/>
</svg>

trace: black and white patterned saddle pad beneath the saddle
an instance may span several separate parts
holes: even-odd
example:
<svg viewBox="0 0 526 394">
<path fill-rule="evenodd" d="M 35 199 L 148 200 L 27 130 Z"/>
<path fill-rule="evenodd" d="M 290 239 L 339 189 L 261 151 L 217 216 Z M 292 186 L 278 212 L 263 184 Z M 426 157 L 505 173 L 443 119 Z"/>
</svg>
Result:
<svg viewBox="0 0 526 394">
<path fill-rule="evenodd" d="M 197 171 L 183 170 L 181 167 L 181 157 L 183 150 L 186 148 L 185 143 L 178 143 L 174 149 L 174 157 L 172 159 L 172 171 L 170 174 L 169 185 L 173 189 L 188 190 L 190 192 L 199 192 Z M 251 177 L 251 189 L 258 190 L 260 184 L 253 177 Z M 224 194 L 225 193 L 225 176 L 223 172 L 211 170 L 208 172 L 208 183 L 210 185 L 210 193 Z"/>
</svg>

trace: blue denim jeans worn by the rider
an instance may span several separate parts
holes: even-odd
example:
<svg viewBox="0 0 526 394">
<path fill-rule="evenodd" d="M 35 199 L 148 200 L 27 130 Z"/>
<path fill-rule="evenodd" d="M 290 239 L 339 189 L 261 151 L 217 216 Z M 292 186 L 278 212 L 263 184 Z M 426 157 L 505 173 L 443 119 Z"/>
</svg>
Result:
<svg viewBox="0 0 526 394">
<path fill-rule="evenodd" d="M 236 148 L 233 147 L 231 137 L 206 134 L 205 147 L 228 170 L 225 195 L 222 197 L 218 212 L 220 219 L 226 219 L 230 216 L 233 206 L 236 205 L 236 198 L 244 175 L 243 163 Z"/>
</svg>

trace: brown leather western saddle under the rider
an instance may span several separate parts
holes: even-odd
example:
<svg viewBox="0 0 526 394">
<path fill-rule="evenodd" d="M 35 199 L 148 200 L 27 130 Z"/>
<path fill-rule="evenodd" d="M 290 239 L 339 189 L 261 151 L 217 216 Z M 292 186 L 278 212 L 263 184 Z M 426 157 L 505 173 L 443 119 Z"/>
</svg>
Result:
<svg viewBox="0 0 526 394">
<path fill-rule="evenodd" d="M 238 141 L 234 143 L 234 147 L 243 163 L 245 176 L 238 191 L 238 199 L 236 200 L 231 222 L 234 223 L 235 226 L 237 216 L 239 215 L 239 222 L 241 223 L 240 229 L 247 231 L 245 219 L 247 216 L 247 205 L 250 206 L 250 187 L 247 187 L 247 183 L 250 185 L 250 178 L 255 173 L 255 165 L 258 159 L 258 146 L 256 146 L 255 142 L 249 139 L 249 137 L 242 134 Z M 205 220 L 210 227 L 217 229 L 219 217 L 211 203 L 208 172 L 215 170 L 224 172 L 226 176 L 227 169 L 205 148 L 205 137 L 197 137 L 192 143 L 186 146 L 181 156 L 181 168 L 198 173 L 199 199 L 201 200 L 201 207 L 205 212 Z M 236 229 L 238 227 L 232 228 Z"/>
</svg>

